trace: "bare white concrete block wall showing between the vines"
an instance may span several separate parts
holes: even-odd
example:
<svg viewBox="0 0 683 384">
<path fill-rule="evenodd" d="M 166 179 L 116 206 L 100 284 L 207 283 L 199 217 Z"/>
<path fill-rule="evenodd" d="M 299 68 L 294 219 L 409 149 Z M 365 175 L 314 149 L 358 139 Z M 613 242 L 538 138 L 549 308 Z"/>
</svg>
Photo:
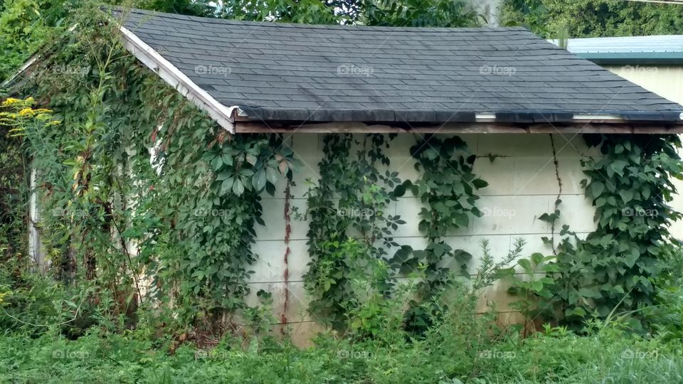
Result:
<svg viewBox="0 0 683 384">
<path fill-rule="evenodd" d="M 297 207 L 300 213 L 306 210 L 305 193 L 310 186 L 307 179 L 319 182 L 318 163 L 322 159 L 323 137 L 323 134 L 293 134 L 287 139 L 292 142 L 292 149 L 302 161 L 302 168 L 295 173 L 296 185 L 291 188 L 293 198 L 290 201 L 290 205 Z M 360 138 L 361 135 L 356 137 Z M 489 240 L 489 247 L 498 260 L 507 255 L 515 238 L 524 238 L 527 242 L 524 257 L 532 252 L 551 254 L 551 247 L 544 245 L 541 240 L 544 236 L 550 237 L 551 227 L 539 220 L 540 215 L 554 209 L 553 204 L 559 193 L 550 135 L 463 134 L 460 137 L 467 142 L 472 154 L 477 155 L 475 174 L 489 183 L 489 186 L 480 190 L 481 198 L 477 205 L 485 212 L 485 216 L 474 218 L 469 228 L 446 234 L 445 240 L 452 247 L 466 250 L 474 256 L 470 272 L 475 272 L 478 258 L 482 255 L 482 239 Z M 562 182 L 561 220 L 556 225 L 556 232 L 561 225 L 568 224 L 572 230 L 585 235 L 595 228 L 595 210 L 590 201 L 584 198 L 583 188 L 579 185 L 584 178 L 580 160 L 582 156 L 598 156 L 599 152 L 588 149 L 581 135 L 554 134 L 553 138 Z M 385 151 L 391 159 L 388 168 L 398 171 L 403 180 L 409 178 L 414 181 L 419 176 L 409 151 L 414 143 L 412 134 L 399 134 Z M 494 160 L 491 161 L 489 156 Z M 255 292 L 259 289 L 272 292 L 277 319 L 282 314 L 285 298 L 284 190 L 285 184 L 282 182 L 277 186 L 275 197 L 263 196 L 263 219 L 266 225 L 256 228 L 257 239 L 253 249 L 259 255 L 259 260 L 252 267 L 255 274 L 250 282 L 252 294 L 248 300 L 255 304 Z M 426 241 L 418 231 L 421 207 L 418 198 L 412 196 L 410 191 L 389 207 L 392 214 L 401 215 L 407 222 L 399 227 L 394 236 L 399 244 L 411 245 L 416 249 L 425 246 Z M 289 299 L 285 316 L 295 340 L 298 338 L 303 341 L 313 331 L 319 330 L 320 326 L 316 324 L 314 315 L 306 310 L 307 295 L 303 287 L 303 276 L 309 262 L 306 245 L 308 223 L 292 218 L 291 228 L 287 265 Z M 389 253 L 393 255 L 392 251 Z M 482 311 L 486 309 L 487 302 L 495 302 L 502 322 L 517 319 L 507 306 L 510 298 L 506 290 L 505 282 L 497 282 L 482 293 Z"/>
</svg>

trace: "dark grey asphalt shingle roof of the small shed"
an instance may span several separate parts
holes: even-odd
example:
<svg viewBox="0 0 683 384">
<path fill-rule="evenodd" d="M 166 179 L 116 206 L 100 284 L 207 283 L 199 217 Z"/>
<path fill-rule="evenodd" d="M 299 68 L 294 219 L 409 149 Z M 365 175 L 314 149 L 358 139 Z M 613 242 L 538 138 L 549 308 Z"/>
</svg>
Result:
<svg viewBox="0 0 683 384">
<path fill-rule="evenodd" d="M 125 27 L 254 119 L 673 121 L 683 111 L 524 28 L 322 26 L 138 10 Z"/>
</svg>

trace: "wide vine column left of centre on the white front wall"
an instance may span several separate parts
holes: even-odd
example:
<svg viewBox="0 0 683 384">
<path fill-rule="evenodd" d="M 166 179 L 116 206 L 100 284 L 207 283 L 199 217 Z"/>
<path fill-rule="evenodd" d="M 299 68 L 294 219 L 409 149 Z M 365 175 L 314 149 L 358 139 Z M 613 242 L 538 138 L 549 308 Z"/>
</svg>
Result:
<svg viewBox="0 0 683 384">
<path fill-rule="evenodd" d="M 396 201 L 391 191 L 401 183 L 397 172 L 378 171 L 378 163 L 389 165 L 382 151 L 388 145 L 381 134 L 364 135 L 361 141 L 351 134 L 327 135 L 319 183 L 308 193 L 309 308 L 337 329 L 346 326 L 349 309 L 358 305 L 352 280 L 367 277 L 359 277 L 359 271 L 370 271 L 373 289 L 383 297 L 394 284 L 383 257 L 398 245 L 391 234 L 405 222 L 387 213 Z"/>
</svg>

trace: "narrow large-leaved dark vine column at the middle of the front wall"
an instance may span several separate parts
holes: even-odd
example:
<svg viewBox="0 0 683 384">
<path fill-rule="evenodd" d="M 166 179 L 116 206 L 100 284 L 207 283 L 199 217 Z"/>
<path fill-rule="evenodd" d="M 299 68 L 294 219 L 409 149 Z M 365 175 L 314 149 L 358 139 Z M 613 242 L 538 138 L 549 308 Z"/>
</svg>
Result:
<svg viewBox="0 0 683 384">
<path fill-rule="evenodd" d="M 475 206 L 479 196 L 476 191 L 488 183 L 477 178 L 472 171 L 476 156 L 467 150 L 467 144 L 460 137 L 439 139 L 427 136 L 411 147 L 415 169 L 421 172 L 415 182 L 406 181 L 397 193 L 402 195 L 411 188 L 413 195 L 420 198 L 418 228 L 428 240 L 424 250 L 414 250 L 403 245 L 392 259 L 392 264 L 403 274 L 420 270 L 423 281 L 419 296 L 428 299 L 441 290 L 450 287 L 451 270 L 467 276 L 467 262 L 472 255 L 463 250 L 454 250 L 443 238 L 449 233 L 470 224 L 470 216 L 481 217 Z M 429 325 L 430 309 L 417 301 L 411 303 L 408 312 L 408 328 L 420 330 Z"/>
</svg>

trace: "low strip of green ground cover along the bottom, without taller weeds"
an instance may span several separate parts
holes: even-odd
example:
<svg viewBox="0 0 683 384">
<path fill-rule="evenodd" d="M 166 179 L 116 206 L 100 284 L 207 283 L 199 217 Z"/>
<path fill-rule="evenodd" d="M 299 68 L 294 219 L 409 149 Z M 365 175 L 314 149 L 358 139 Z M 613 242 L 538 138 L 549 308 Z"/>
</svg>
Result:
<svg viewBox="0 0 683 384">
<path fill-rule="evenodd" d="M 448 324 L 452 330 L 458 324 Z M 435 331 L 423 341 L 351 343 L 331 335 L 300 350 L 289 343 L 226 339 L 211 351 L 174 354 L 135 334 L 0 338 L 0 381 L 14 383 L 680 383 L 679 343 L 608 329 L 579 337 L 562 329 L 493 344 Z M 163 344 L 163 343 L 162 343 Z M 454 348 L 458 344 L 462 348 Z"/>
</svg>

